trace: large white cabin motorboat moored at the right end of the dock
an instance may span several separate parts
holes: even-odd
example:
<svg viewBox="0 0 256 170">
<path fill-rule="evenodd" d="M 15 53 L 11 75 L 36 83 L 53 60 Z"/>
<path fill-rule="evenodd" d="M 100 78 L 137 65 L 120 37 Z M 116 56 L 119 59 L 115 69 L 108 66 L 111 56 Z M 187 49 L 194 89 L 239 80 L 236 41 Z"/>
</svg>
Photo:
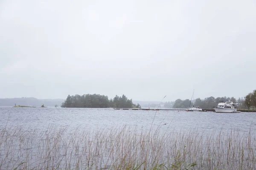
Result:
<svg viewBox="0 0 256 170">
<path fill-rule="evenodd" d="M 237 111 L 237 103 L 230 102 L 230 100 L 220 100 L 217 107 L 213 107 L 217 113 L 240 113 Z"/>
</svg>

